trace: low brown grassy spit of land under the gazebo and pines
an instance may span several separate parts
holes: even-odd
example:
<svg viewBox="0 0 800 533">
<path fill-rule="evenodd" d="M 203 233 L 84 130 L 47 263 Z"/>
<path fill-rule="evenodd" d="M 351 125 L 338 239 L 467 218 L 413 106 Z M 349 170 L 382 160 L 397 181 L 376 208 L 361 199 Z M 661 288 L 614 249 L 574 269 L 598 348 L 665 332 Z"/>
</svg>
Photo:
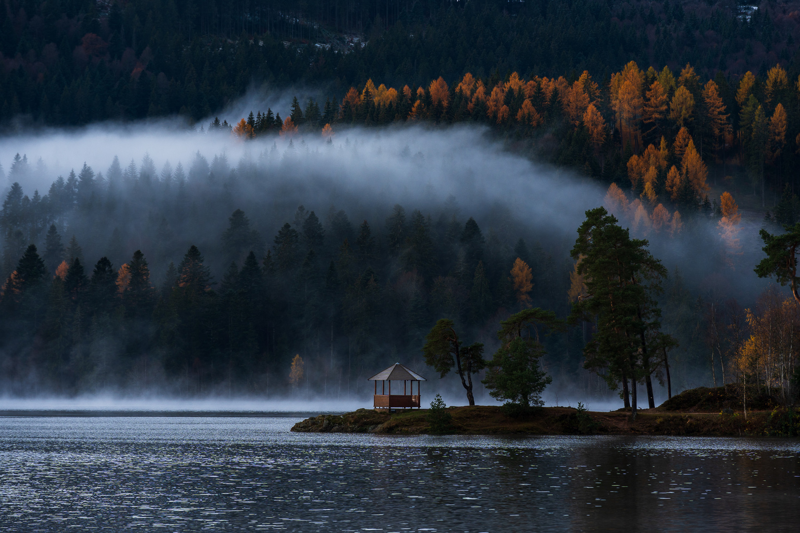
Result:
<svg viewBox="0 0 800 533">
<path fill-rule="evenodd" d="M 689 408 L 671 411 L 669 402 L 655 409 L 640 409 L 636 420 L 630 411 L 590 412 L 576 408 L 508 408 L 475 405 L 446 408 L 452 417 L 441 433 L 454 435 L 653 435 L 653 436 L 798 436 L 800 409 L 734 411 L 709 400 L 717 389 L 693 389 L 680 402 Z M 689 392 L 689 391 L 686 391 Z M 724 392 L 724 391 L 723 391 Z M 685 393 L 682 393 L 685 394 Z M 678 395 L 681 396 L 681 395 Z M 676 400 L 674 396 L 672 400 Z M 695 401 L 696 400 L 696 401 Z M 692 403 L 694 401 L 694 404 Z M 702 409 L 706 408 L 706 409 Z M 706 412 L 701 412 L 705 410 Z M 343 415 L 320 415 L 294 424 L 293 432 L 374 433 L 421 435 L 433 433 L 428 409 L 403 412 L 358 409 Z"/>
</svg>

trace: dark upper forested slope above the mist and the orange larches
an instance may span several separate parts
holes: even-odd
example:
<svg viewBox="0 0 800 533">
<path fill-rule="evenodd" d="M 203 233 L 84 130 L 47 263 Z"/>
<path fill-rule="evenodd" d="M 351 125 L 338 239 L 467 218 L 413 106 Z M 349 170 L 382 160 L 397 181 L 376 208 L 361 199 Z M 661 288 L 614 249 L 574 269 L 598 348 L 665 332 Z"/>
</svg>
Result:
<svg viewBox="0 0 800 533">
<path fill-rule="evenodd" d="M 798 6 L 763 2 L 3 0 L 0 122 L 200 119 L 250 86 L 603 80 L 627 62 L 796 77 Z"/>
</svg>

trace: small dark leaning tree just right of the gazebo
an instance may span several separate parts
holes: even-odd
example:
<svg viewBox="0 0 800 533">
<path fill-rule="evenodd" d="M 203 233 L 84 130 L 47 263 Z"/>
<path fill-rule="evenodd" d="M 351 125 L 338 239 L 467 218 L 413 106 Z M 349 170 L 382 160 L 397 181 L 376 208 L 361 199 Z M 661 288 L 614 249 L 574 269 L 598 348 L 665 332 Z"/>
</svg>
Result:
<svg viewBox="0 0 800 533">
<path fill-rule="evenodd" d="M 470 405 L 475 404 L 472 394 L 472 375 L 486 366 L 483 360 L 483 344 L 474 343 L 462 346 L 462 341 L 455 331 L 453 320 L 442 318 L 436 321 L 425 337 L 422 353 L 425 363 L 439 372 L 439 377 L 446 376 L 454 367 L 466 390 L 466 399 Z"/>
</svg>

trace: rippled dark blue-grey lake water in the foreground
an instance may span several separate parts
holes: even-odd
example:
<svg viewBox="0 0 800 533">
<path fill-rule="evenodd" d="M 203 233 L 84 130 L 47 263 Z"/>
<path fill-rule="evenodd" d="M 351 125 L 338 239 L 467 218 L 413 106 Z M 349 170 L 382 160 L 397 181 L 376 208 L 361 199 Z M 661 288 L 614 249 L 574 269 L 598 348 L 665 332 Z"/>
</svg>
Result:
<svg viewBox="0 0 800 533">
<path fill-rule="evenodd" d="M 0 417 L 0 531 L 798 531 L 800 442 Z"/>
</svg>

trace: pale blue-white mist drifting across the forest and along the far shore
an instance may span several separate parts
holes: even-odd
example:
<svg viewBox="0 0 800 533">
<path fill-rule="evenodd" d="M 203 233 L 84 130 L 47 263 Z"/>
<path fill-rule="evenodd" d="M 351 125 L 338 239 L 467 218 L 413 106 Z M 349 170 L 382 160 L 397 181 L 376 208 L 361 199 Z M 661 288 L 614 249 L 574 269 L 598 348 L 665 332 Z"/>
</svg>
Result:
<svg viewBox="0 0 800 533">
<path fill-rule="evenodd" d="M 17 153 L 26 156 L 26 168 L 14 168 Z M 602 205 L 607 189 L 607 185 L 578 177 L 569 170 L 511 153 L 487 129 L 471 126 L 343 129 L 327 142 L 317 132 L 242 141 L 229 133 L 198 133 L 178 121 L 101 124 L 74 131 L 50 129 L 2 138 L 0 164 L 6 176 L 4 197 L 13 182 L 19 182 L 24 193 L 33 197 L 34 189 L 40 195 L 52 192 L 56 177 L 66 177 L 72 170 L 79 173 L 84 164 L 94 170 L 97 176 L 90 187 L 82 191 L 78 184 L 78 208 L 56 217 L 65 244 L 71 236 L 77 237 L 87 272 L 99 257 L 109 257 L 118 268 L 130 260 L 131 253 L 141 249 L 150 264 L 151 280 L 158 287 L 170 261 L 178 265 L 186 249 L 196 245 L 205 255 L 218 286 L 230 260 L 241 265 L 243 259 L 242 255 L 226 254 L 222 245 L 221 237 L 231 213 L 235 209 L 246 213 L 251 227 L 260 235 L 260 253 L 266 253 L 272 236 L 284 223 L 297 227 L 298 205 L 304 206 L 306 216 L 310 211 L 317 213 L 330 236 L 330 251 L 320 261 L 324 268 L 326 261 L 335 257 L 342 237 L 354 241 L 355 233 L 335 233 L 340 213 L 346 213 L 346 220 L 354 229 L 361 221 L 369 221 L 374 237 L 382 242 L 386 239 L 384 221 L 394 205 L 402 205 L 406 213 L 418 209 L 431 227 L 450 220 L 463 225 L 467 218 L 474 217 L 486 237 L 486 246 L 494 247 L 493 253 L 511 261 L 519 238 L 529 246 L 540 245 L 541 255 L 536 259 L 542 271 L 550 270 L 550 281 L 539 281 L 534 286 L 534 306 L 554 308 L 558 316 L 565 316 L 569 309 L 566 288 L 572 261 L 568 253 L 575 230 L 586 209 Z M 182 168 L 180 175 L 178 165 Z M 622 225 L 630 224 L 626 217 L 620 219 Z M 668 232 L 642 228 L 632 233 L 634 237 L 648 238 L 655 257 L 662 259 L 670 272 L 678 268 L 686 284 L 699 294 L 719 293 L 737 298 L 744 306 L 751 304 L 769 283 L 758 280 L 752 272 L 761 256 L 760 221 L 745 213 L 738 235 L 741 251 L 730 256 L 730 265 L 722 261 L 725 250 L 715 221 L 695 217 L 685 222 L 682 233 L 673 237 Z M 44 228 L 38 229 L 32 238 L 40 250 L 44 233 Z M 333 242 L 336 237 L 338 242 Z M 14 261 L 7 263 L 13 266 Z M 398 267 L 392 268 L 379 272 L 382 282 L 386 278 L 397 279 Z M 9 273 L 4 272 L 3 276 Z M 492 328 L 470 331 L 466 336 L 486 342 L 487 356 L 491 355 Z M 432 369 L 424 366 L 418 352 L 422 344 L 401 347 L 402 352 L 396 346 L 376 345 L 370 358 L 357 367 L 352 359 L 346 365 L 345 345 L 339 340 L 334 344 L 314 348 L 318 365 L 302 389 L 302 396 L 310 398 L 306 403 L 290 397 L 283 399 L 288 392 L 288 358 L 295 351 L 290 348 L 266 371 L 271 381 L 265 378 L 250 388 L 242 400 L 230 400 L 241 394 L 231 392 L 230 384 L 218 384 L 204 389 L 212 395 L 209 400 L 175 404 L 174 408 L 306 411 L 317 410 L 324 403 L 325 411 L 345 411 L 355 405 L 356 397 L 361 396 L 359 402 L 369 400 L 372 391 L 367 390 L 371 384 L 366 382 L 366 376 L 394 362 L 409 364 L 428 376 L 423 397 L 442 392 L 449 404 L 464 403 L 458 380 L 453 376 L 438 380 Z M 13 357 L 14 350 L 24 351 L 6 345 L 4 355 Z M 327 363 L 323 364 L 325 360 Z M 546 404 L 574 405 L 583 401 L 590 408 L 618 407 L 616 396 L 604 391 L 605 385 L 598 384 L 596 376 L 583 371 L 580 360 L 574 347 L 553 344 L 546 368 L 554 376 L 554 384 L 545 392 Z M 686 360 L 689 362 L 684 368 L 676 365 L 674 392 L 707 383 L 706 370 L 695 368 L 691 357 Z M 350 372 L 344 388 L 343 368 Z M 34 374 L 22 376 L 23 381 L 43 383 Z M 334 380 L 338 380 L 335 385 Z M 160 409 L 162 400 L 158 398 L 188 393 L 188 388 L 172 382 L 169 385 L 167 376 L 158 376 L 143 388 L 141 383 L 133 388 L 141 393 L 139 396 L 144 395 L 141 400 L 118 400 L 118 393 L 126 397 L 136 394 L 130 388 L 120 388 L 118 382 L 103 385 L 95 381 L 90 389 L 99 396 L 84 396 L 83 400 L 75 400 L 75 405 L 130 404 L 141 405 L 144 410 Z M 482 385 L 477 383 L 476 388 L 479 402 L 494 403 Z M 329 403 L 330 390 L 336 391 L 338 399 L 333 404 Z M 46 386 L 34 391 L 47 394 Z M 21 392 L 20 388 L 6 388 L 6 394 L 12 396 Z M 262 405 L 260 400 L 248 399 L 253 394 L 282 399 Z M 662 390 L 656 394 L 660 399 L 666 398 Z M 59 392 L 56 395 L 61 397 Z M 148 395 L 155 400 L 148 400 Z M 41 404 L 50 405 L 51 401 L 58 404 L 60 400 L 42 400 Z M 2 404 L 2 408 L 15 405 L 7 398 Z"/>
</svg>

